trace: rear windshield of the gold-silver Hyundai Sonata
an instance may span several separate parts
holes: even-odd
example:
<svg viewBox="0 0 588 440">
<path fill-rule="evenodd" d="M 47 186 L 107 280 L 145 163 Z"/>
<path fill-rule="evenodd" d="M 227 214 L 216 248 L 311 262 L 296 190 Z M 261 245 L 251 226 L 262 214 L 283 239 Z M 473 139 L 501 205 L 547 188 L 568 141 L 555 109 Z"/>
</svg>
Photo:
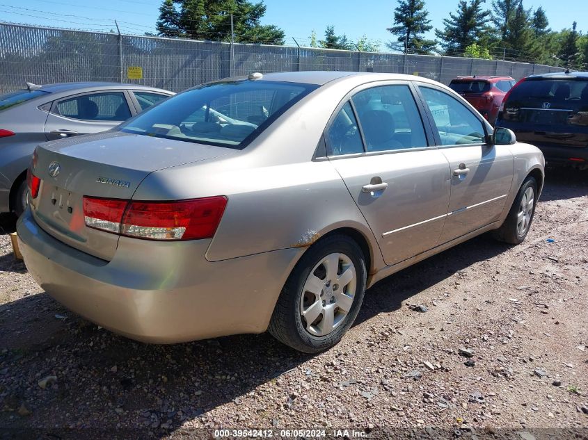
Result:
<svg viewBox="0 0 588 440">
<path fill-rule="evenodd" d="M 120 126 L 128 133 L 241 149 L 317 85 L 227 81 L 187 90 Z"/>
</svg>

